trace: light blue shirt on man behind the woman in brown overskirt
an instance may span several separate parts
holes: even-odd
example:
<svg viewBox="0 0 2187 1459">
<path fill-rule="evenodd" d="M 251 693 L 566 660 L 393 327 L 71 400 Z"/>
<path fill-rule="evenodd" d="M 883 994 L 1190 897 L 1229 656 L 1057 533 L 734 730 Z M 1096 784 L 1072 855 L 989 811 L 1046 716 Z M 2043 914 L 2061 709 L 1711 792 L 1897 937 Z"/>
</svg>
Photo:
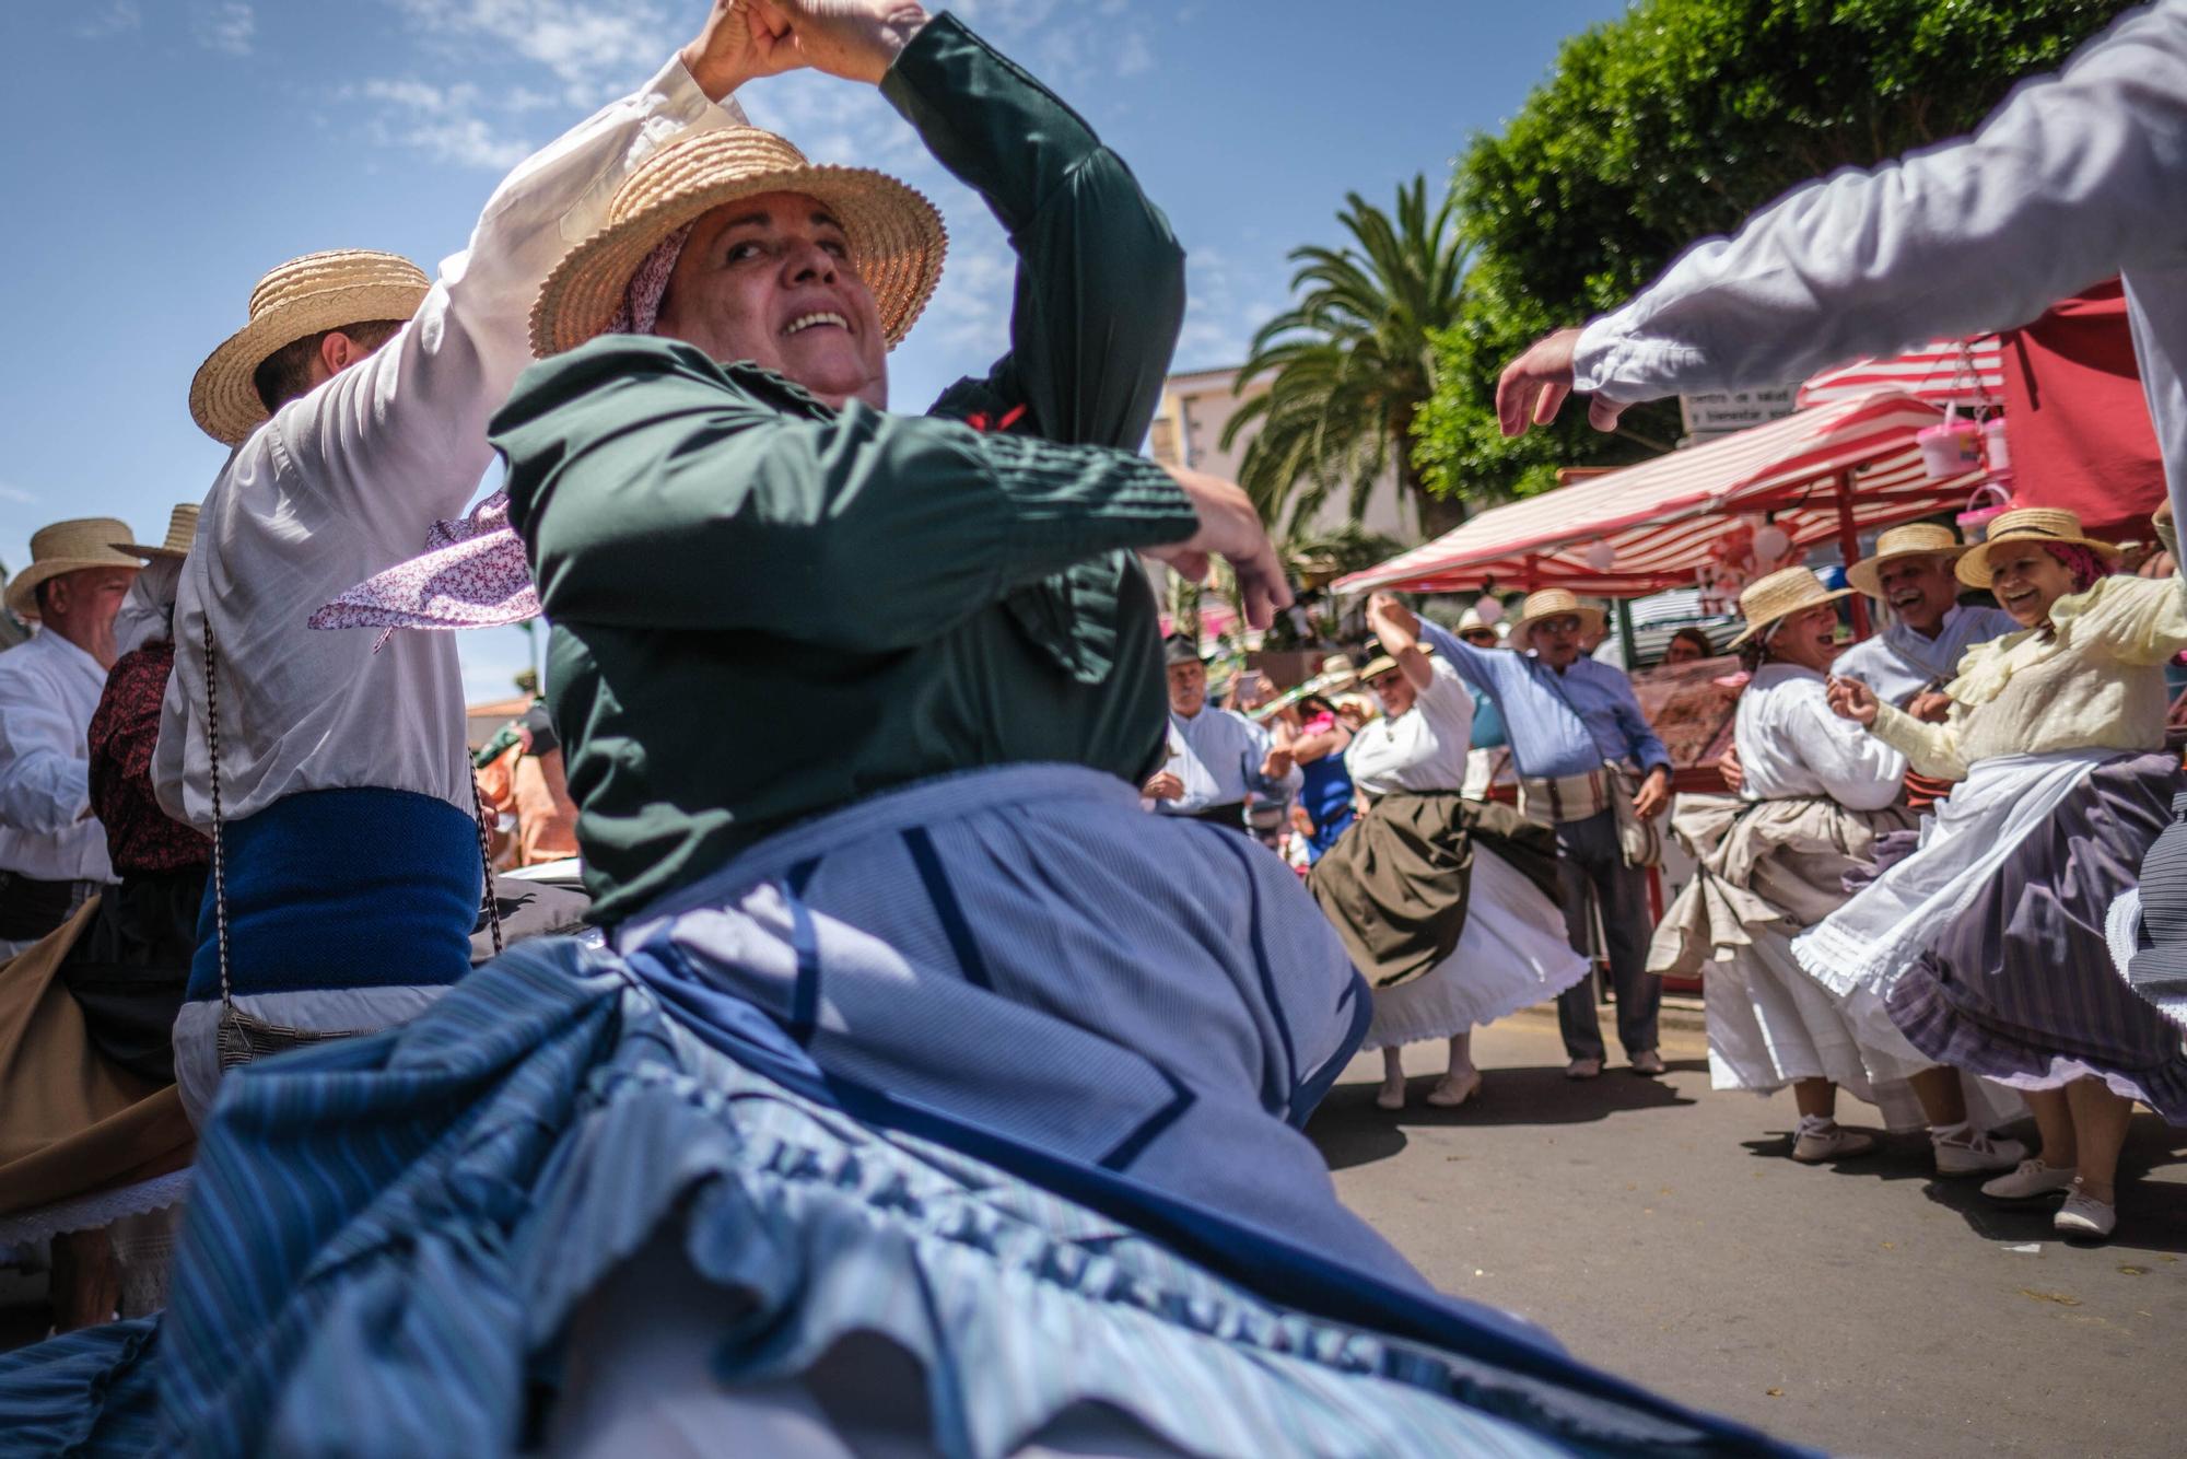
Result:
<svg viewBox="0 0 2187 1459">
<path fill-rule="evenodd" d="M 1419 637 L 1496 704 L 1522 777 L 1586 774 L 1603 761 L 1634 761 L 1647 774 L 1671 763 L 1623 669 L 1579 658 L 1557 674 L 1533 654 L 1481 650 L 1426 619 Z"/>
</svg>

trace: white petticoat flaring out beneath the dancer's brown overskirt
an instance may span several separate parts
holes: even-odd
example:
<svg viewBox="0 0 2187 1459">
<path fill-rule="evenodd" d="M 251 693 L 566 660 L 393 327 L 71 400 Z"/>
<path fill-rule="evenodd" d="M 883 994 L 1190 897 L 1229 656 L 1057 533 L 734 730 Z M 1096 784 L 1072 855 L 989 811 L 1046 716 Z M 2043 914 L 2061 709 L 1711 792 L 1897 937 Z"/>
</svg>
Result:
<svg viewBox="0 0 2187 1459">
<path fill-rule="evenodd" d="M 1555 997 L 1586 976 L 1586 958 L 1564 936 L 1564 910 L 1476 840 L 1459 945 L 1419 978 L 1376 989 L 1360 1048 L 1448 1039 Z"/>
</svg>

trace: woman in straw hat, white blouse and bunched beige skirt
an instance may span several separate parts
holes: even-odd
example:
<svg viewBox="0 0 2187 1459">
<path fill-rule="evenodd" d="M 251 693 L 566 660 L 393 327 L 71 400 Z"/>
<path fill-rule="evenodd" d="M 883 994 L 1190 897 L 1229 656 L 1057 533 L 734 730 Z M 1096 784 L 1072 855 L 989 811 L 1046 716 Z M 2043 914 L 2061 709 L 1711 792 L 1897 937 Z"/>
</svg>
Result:
<svg viewBox="0 0 2187 1459">
<path fill-rule="evenodd" d="M 1846 901 L 1848 873 L 1872 871 L 1874 840 L 1914 825 L 1901 805 L 1905 757 L 1831 713 L 1837 599 L 1806 567 L 1769 573 L 1739 595 L 1732 639 L 1752 680 L 1739 696 L 1741 796 L 1682 796 L 1673 829 L 1699 864 L 1656 927 L 1651 973 L 1701 973 L 1715 1089 L 1791 1085 L 1800 1109 L 1791 1157 L 1866 1155 L 1874 1140 L 1839 1129 L 1837 1092 L 1883 1109 L 1892 1129 L 1927 1120 L 1898 1059 L 1839 1011 L 1791 956 L 1791 936 Z"/>
</svg>

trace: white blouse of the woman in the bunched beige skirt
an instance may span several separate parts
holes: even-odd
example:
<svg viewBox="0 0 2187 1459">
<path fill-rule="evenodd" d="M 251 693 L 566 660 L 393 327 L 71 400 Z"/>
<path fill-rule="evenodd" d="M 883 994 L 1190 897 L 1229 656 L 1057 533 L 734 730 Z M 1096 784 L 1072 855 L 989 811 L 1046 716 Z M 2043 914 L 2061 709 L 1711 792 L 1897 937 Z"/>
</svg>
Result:
<svg viewBox="0 0 2187 1459">
<path fill-rule="evenodd" d="M 1739 768 L 1747 801 L 1831 796 L 1857 812 L 1898 798 L 1907 759 L 1852 720 L 1831 711 L 1815 669 L 1765 663 L 1739 696 Z"/>
</svg>

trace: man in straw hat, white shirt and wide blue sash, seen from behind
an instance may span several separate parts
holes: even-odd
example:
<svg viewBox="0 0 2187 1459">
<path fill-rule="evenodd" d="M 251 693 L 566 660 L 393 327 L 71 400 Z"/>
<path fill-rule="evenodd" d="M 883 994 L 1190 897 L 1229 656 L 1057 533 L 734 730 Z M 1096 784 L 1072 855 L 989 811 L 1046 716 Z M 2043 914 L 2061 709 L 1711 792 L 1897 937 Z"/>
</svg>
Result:
<svg viewBox="0 0 2187 1459">
<path fill-rule="evenodd" d="M 236 446 L 184 569 L 153 763 L 171 816 L 225 825 L 227 906 L 201 921 L 175 1026 L 192 1111 L 219 1076 L 223 982 L 247 1017 L 332 1032 L 402 1022 L 468 971 L 481 857 L 455 641 L 378 647 L 304 619 L 464 510 L 549 269 L 606 223 L 636 162 L 741 122 L 722 98 L 785 59 L 711 7 L 652 81 L 518 164 L 435 282 L 387 254 L 291 260 L 192 381 L 192 416 Z"/>
</svg>

